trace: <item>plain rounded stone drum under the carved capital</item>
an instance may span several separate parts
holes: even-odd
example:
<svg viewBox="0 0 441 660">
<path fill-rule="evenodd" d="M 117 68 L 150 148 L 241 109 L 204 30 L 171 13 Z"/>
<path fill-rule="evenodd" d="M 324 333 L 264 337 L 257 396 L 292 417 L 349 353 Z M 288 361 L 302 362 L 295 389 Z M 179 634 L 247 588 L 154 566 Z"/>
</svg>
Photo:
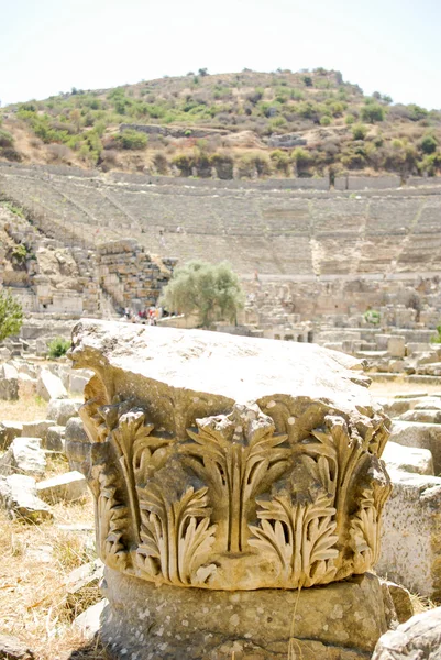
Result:
<svg viewBox="0 0 441 660">
<path fill-rule="evenodd" d="M 125 657 L 126 649 L 129 658 L 140 660 L 151 653 L 209 660 L 361 659 L 370 658 L 388 627 L 379 581 L 370 573 L 300 593 L 228 593 L 158 588 L 106 569 L 102 590 L 109 605 L 101 636 L 117 658 Z"/>
</svg>

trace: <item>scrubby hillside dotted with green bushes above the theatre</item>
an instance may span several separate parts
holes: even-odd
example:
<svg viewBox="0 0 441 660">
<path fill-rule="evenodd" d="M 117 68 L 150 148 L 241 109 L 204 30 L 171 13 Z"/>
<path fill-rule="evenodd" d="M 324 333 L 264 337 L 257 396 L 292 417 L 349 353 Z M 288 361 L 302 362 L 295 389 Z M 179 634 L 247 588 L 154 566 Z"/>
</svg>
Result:
<svg viewBox="0 0 441 660">
<path fill-rule="evenodd" d="M 11 162 L 221 179 L 441 170 L 441 110 L 364 96 L 322 68 L 73 88 L 0 120 Z"/>
</svg>

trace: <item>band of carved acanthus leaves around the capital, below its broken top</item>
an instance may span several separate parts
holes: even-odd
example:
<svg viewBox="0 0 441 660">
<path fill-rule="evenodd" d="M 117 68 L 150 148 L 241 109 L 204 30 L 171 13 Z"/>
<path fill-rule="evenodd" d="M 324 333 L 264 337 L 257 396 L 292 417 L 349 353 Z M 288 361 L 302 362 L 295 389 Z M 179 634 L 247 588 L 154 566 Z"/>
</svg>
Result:
<svg viewBox="0 0 441 660">
<path fill-rule="evenodd" d="M 276 432 L 254 404 L 176 437 L 130 400 L 89 400 L 103 561 L 156 583 L 223 590 L 308 587 L 368 570 L 390 491 L 385 420 L 322 406 L 317 426 L 316 408 L 313 428 L 305 414 L 294 435 Z"/>
</svg>

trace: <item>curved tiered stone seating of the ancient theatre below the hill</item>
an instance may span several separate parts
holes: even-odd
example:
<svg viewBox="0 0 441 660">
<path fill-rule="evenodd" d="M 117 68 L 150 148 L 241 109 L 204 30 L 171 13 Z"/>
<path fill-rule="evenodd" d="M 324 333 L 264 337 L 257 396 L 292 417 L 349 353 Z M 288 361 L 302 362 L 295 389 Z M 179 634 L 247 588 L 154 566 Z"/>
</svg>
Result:
<svg viewBox="0 0 441 660">
<path fill-rule="evenodd" d="M 332 326 L 348 326 L 375 308 L 389 324 L 423 330 L 441 316 L 439 179 L 351 176 L 329 189 L 324 178 L 220 182 L 3 163 L 0 198 L 71 251 L 85 288 L 98 290 L 79 312 L 99 312 L 100 293 L 117 307 L 154 304 L 176 263 L 205 258 L 239 273 L 247 323 L 332 316 Z"/>
</svg>

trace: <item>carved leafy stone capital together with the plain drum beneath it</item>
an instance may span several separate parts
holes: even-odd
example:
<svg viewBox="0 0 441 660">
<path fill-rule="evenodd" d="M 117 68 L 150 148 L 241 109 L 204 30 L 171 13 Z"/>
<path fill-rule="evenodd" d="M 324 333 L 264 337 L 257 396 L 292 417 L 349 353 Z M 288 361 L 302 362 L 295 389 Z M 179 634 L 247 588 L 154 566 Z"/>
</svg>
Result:
<svg viewBox="0 0 441 660">
<path fill-rule="evenodd" d="M 96 503 L 114 658 L 367 658 L 388 419 L 313 344 L 85 320 L 67 447 Z M 312 587 L 312 588 L 311 588 Z"/>
</svg>

